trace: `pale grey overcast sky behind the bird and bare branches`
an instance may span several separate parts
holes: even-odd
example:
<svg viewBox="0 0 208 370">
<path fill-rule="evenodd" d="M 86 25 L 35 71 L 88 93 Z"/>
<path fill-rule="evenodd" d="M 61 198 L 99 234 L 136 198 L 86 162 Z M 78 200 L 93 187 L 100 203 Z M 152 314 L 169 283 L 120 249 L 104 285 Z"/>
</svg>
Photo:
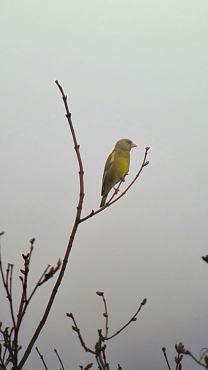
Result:
<svg viewBox="0 0 208 370">
<path fill-rule="evenodd" d="M 1 1 L 1 238 L 4 269 L 36 238 L 29 288 L 63 259 L 78 200 L 78 165 L 58 79 L 68 96 L 84 165 L 83 216 L 100 204 L 105 160 L 129 137 L 130 174 L 140 178 L 117 203 L 82 223 L 50 316 L 35 346 L 48 369 L 93 362 L 71 330 L 73 312 L 88 347 L 134 314 L 137 322 L 107 342 L 111 370 L 175 369 L 174 344 L 198 356 L 208 347 L 207 0 Z M 55 283 L 40 287 L 20 344 L 27 346 Z M 9 305 L 0 286 L 3 326 Z M 23 350 L 21 351 L 23 354 Z M 20 358 L 21 358 L 20 354 Z M 198 368 L 185 358 L 183 369 Z M 43 369 L 35 349 L 24 369 Z"/>
</svg>

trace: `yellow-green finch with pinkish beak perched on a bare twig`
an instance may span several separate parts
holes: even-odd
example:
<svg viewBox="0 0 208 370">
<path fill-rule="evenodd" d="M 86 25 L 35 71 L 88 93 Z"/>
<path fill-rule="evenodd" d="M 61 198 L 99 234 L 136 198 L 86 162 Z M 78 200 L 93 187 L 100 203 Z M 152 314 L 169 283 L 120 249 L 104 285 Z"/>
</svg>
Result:
<svg viewBox="0 0 208 370">
<path fill-rule="evenodd" d="M 108 155 L 103 172 L 100 208 L 105 205 L 108 193 L 119 181 L 124 180 L 130 166 L 130 150 L 137 147 L 130 139 L 120 139 L 115 144 L 111 154 Z M 115 188 L 114 188 L 115 189 Z M 115 189 L 116 190 L 116 189 Z"/>
</svg>

